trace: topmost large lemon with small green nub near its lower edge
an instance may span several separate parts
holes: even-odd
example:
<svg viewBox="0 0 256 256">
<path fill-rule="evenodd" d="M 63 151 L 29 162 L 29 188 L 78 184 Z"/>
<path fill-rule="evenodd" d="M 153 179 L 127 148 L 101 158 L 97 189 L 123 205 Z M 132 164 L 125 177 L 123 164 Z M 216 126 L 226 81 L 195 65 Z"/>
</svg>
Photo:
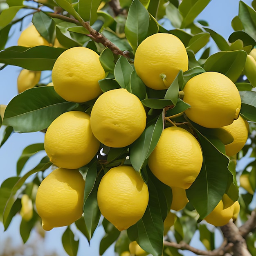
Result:
<svg viewBox="0 0 256 256">
<path fill-rule="evenodd" d="M 189 58 L 179 38 L 172 34 L 157 33 L 147 37 L 138 46 L 134 67 L 146 86 L 164 90 L 171 85 L 180 70 L 188 70 Z"/>
</svg>

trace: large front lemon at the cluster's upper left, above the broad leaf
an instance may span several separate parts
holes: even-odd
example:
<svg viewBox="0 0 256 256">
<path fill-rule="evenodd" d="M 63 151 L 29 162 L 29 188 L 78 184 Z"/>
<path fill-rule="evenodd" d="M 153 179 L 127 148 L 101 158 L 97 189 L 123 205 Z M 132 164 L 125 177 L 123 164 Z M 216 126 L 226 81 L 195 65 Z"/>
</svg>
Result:
<svg viewBox="0 0 256 256">
<path fill-rule="evenodd" d="M 98 81 L 104 77 L 99 55 L 81 46 L 65 50 L 52 69 L 55 91 L 72 102 L 81 103 L 98 97 L 102 93 Z"/>
</svg>

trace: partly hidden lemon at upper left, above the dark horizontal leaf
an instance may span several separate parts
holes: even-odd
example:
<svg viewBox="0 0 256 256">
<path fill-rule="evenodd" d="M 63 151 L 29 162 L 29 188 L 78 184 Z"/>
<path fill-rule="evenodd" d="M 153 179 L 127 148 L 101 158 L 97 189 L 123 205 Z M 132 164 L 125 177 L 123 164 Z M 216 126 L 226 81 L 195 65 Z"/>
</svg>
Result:
<svg viewBox="0 0 256 256">
<path fill-rule="evenodd" d="M 30 25 L 21 32 L 18 39 L 18 45 L 25 47 L 34 47 L 38 45 L 49 46 L 50 44 L 45 38 L 43 38 L 43 36 L 39 34 L 34 25 Z"/>
</svg>

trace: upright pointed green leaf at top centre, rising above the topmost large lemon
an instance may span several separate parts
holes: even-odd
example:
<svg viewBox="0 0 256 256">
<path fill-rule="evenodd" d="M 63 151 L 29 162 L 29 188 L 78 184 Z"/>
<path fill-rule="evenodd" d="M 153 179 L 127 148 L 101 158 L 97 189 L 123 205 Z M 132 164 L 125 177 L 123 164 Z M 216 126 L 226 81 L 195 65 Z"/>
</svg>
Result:
<svg viewBox="0 0 256 256">
<path fill-rule="evenodd" d="M 124 32 L 133 51 L 147 37 L 149 14 L 139 0 L 133 0 L 128 11 Z"/>
</svg>

